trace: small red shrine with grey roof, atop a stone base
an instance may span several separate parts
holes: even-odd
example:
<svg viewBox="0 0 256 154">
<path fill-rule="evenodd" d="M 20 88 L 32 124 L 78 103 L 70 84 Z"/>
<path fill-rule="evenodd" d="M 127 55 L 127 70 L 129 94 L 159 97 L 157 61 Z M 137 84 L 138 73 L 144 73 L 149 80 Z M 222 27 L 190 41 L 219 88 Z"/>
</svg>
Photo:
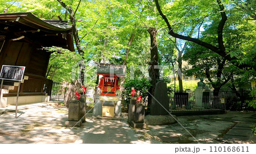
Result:
<svg viewBox="0 0 256 154">
<path fill-rule="evenodd" d="M 98 88 L 101 89 L 101 95 L 117 96 L 119 77 L 125 76 L 121 66 L 101 64 L 97 69 L 97 75 L 102 76 L 98 85 Z"/>
</svg>

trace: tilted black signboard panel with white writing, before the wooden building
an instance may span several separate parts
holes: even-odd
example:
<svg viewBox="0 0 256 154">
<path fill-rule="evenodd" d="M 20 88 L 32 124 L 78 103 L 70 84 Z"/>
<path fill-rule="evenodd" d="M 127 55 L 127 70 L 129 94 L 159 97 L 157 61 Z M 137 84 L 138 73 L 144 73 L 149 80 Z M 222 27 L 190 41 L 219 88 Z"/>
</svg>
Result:
<svg viewBox="0 0 256 154">
<path fill-rule="evenodd" d="M 0 73 L 0 79 L 22 81 L 25 72 L 25 66 L 3 65 Z"/>
</svg>

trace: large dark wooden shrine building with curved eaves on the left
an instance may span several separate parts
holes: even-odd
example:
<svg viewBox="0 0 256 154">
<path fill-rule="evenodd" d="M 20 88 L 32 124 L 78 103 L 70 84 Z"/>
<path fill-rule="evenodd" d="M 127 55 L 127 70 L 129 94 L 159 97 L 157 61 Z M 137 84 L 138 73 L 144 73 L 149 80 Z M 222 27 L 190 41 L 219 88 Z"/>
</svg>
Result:
<svg viewBox="0 0 256 154">
<path fill-rule="evenodd" d="M 74 52 L 72 26 L 60 20 L 41 20 L 30 12 L 0 14 L 0 67 L 26 66 L 28 79 L 20 85 L 19 104 L 46 100 L 43 87 L 51 53 L 43 47 L 49 46 Z M 1 104 L 13 105 L 18 87 L 7 80 L 3 85 Z"/>
</svg>

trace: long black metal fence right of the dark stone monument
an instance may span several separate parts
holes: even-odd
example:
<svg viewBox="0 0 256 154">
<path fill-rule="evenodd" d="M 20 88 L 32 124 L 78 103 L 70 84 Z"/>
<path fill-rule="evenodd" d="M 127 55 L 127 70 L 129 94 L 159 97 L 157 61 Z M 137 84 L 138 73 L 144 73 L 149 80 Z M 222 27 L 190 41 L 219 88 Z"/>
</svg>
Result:
<svg viewBox="0 0 256 154">
<path fill-rule="evenodd" d="M 255 110 L 248 106 L 253 99 L 250 96 L 251 88 L 221 89 L 218 95 L 212 90 L 205 92 L 175 92 L 170 100 L 171 112 L 197 112 L 213 110 Z"/>
</svg>

